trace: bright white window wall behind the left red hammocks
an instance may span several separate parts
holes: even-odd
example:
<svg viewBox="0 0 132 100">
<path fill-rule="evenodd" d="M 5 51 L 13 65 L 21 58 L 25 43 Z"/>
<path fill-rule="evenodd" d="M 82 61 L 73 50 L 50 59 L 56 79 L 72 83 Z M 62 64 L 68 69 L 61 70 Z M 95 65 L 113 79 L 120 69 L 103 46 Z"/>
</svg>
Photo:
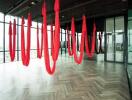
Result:
<svg viewBox="0 0 132 100">
<path fill-rule="evenodd" d="M 9 54 L 9 22 L 16 19 L 17 23 L 17 34 L 16 34 L 16 55 L 15 61 L 21 60 L 21 18 L 14 17 L 11 15 L 5 16 L 4 22 L 4 14 L 0 13 L 0 63 L 3 62 L 10 62 L 10 54 Z M 31 52 L 30 58 L 34 59 L 37 58 L 37 24 L 39 25 L 39 37 L 41 40 L 41 23 L 37 23 L 32 21 L 31 26 Z M 25 19 L 25 43 L 27 42 L 27 19 Z M 54 27 L 53 27 L 54 28 Z M 51 54 L 51 31 L 50 25 L 47 25 L 47 33 L 48 33 L 48 47 L 49 47 L 49 54 Z M 41 43 L 41 41 L 40 41 Z M 5 48 L 4 48 L 5 47 Z M 5 59 L 5 61 L 4 61 Z"/>
</svg>

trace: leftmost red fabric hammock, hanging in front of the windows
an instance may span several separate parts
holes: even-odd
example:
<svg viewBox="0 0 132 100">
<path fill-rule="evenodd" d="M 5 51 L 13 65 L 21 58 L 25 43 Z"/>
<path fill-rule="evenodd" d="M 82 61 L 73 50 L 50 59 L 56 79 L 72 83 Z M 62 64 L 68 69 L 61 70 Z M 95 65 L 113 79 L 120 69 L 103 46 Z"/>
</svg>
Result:
<svg viewBox="0 0 132 100">
<path fill-rule="evenodd" d="M 11 21 L 9 23 L 9 52 L 10 52 L 11 61 L 14 61 L 15 59 L 15 49 L 16 49 L 16 20 L 14 19 L 13 30 L 12 30 Z"/>
</svg>

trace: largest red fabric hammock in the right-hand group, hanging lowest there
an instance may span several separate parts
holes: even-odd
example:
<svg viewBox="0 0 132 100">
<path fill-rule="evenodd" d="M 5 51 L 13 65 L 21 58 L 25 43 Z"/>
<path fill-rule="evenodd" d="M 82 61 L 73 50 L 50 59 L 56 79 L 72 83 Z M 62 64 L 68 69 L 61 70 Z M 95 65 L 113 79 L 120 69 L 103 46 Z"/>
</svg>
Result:
<svg viewBox="0 0 132 100">
<path fill-rule="evenodd" d="M 72 40 L 73 40 L 73 54 L 74 54 L 74 60 L 77 64 L 80 64 L 83 60 L 83 54 L 84 54 L 84 38 L 86 33 L 86 17 L 83 16 L 83 23 L 82 23 L 82 36 L 81 36 L 81 43 L 80 43 L 80 55 L 77 56 L 76 53 L 76 36 L 75 36 L 75 22 L 74 17 L 72 18 L 72 24 L 71 24 L 71 33 L 72 33 Z"/>
</svg>

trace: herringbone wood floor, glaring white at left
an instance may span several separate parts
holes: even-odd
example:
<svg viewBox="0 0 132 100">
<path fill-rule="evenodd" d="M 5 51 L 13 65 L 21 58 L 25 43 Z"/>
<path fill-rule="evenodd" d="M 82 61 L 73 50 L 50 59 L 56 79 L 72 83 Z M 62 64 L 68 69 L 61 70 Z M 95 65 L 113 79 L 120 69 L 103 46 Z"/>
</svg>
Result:
<svg viewBox="0 0 132 100">
<path fill-rule="evenodd" d="M 0 100 L 130 100 L 124 66 L 59 57 L 53 76 L 43 60 L 0 65 Z"/>
</svg>

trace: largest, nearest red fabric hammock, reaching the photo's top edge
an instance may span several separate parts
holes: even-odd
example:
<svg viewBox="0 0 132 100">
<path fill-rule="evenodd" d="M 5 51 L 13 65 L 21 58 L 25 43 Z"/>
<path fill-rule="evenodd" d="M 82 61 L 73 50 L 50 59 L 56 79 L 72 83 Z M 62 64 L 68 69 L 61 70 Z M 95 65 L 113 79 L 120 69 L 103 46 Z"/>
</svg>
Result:
<svg viewBox="0 0 132 100">
<path fill-rule="evenodd" d="M 55 32 L 53 36 L 53 67 L 50 67 L 50 58 L 48 53 L 48 37 L 47 37 L 47 18 L 46 18 L 46 4 L 42 7 L 42 15 L 43 15 L 43 32 L 44 32 L 44 60 L 46 70 L 49 74 L 53 74 L 56 68 L 56 61 L 58 59 L 59 48 L 60 48 L 60 22 L 59 22 L 59 0 L 55 0 L 54 11 L 55 11 Z"/>
</svg>

